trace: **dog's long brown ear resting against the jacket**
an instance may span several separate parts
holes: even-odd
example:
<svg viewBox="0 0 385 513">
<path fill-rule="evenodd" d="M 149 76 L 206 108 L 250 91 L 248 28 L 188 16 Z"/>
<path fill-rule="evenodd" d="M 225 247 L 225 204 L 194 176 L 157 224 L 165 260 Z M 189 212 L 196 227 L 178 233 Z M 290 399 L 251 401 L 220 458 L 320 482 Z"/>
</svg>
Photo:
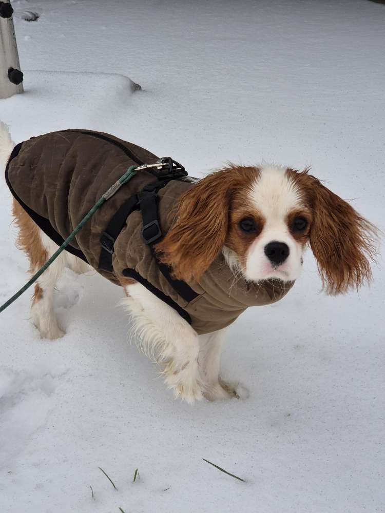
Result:
<svg viewBox="0 0 385 513">
<path fill-rule="evenodd" d="M 198 279 L 225 244 L 229 205 L 244 172 L 255 168 L 228 168 L 207 175 L 180 199 L 177 217 L 162 242 L 160 260 L 171 266 L 175 278 Z"/>
</svg>

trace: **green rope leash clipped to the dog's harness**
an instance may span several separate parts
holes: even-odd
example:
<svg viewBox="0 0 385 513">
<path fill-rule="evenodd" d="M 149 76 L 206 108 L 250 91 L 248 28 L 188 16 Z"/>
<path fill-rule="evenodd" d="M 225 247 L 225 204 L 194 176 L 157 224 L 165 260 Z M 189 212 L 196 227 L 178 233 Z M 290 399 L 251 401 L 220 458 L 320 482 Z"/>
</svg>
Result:
<svg viewBox="0 0 385 513">
<path fill-rule="evenodd" d="M 159 166 L 159 164 L 158 164 Z M 147 167 L 147 166 L 146 166 Z M 5 310 L 9 305 L 11 305 L 14 301 L 16 301 L 17 298 L 20 298 L 20 296 L 38 279 L 41 277 L 43 272 L 48 269 L 48 267 L 54 262 L 57 257 L 59 257 L 60 253 L 62 253 L 65 248 L 68 246 L 68 244 L 72 241 L 72 239 L 75 237 L 77 233 L 83 228 L 83 226 L 89 221 L 93 214 L 100 209 L 100 207 L 103 205 L 105 201 L 107 201 L 111 196 L 115 194 L 115 192 L 118 191 L 122 187 L 122 185 L 126 184 L 133 178 L 137 173 L 135 171 L 137 169 L 137 166 L 130 166 L 128 170 L 124 173 L 123 176 L 120 177 L 118 182 L 115 182 L 98 200 L 98 202 L 91 208 L 91 210 L 84 216 L 82 221 L 76 226 L 76 228 L 73 230 L 72 233 L 70 233 L 67 237 L 67 239 L 63 242 L 63 244 L 60 246 L 57 251 L 55 251 L 52 255 L 52 257 L 47 260 L 47 262 L 43 265 L 43 267 L 36 272 L 36 274 L 33 275 L 33 277 L 27 282 L 24 287 L 22 287 L 20 290 L 18 290 L 12 298 L 10 298 L 8 301 L 4 303 L 4 305 L 0 306 L 0 313 Z"/>
</svg>

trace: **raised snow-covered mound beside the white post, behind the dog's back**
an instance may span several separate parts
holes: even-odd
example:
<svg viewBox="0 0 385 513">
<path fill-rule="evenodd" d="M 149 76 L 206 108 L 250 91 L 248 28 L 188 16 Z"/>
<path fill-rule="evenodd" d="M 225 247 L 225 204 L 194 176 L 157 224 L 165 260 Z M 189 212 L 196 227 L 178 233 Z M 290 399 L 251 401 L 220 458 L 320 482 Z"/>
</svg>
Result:
<svg viewBox="0 0 385 513">
<path fill-rule="evenodd" d="M 132 93 L 141 89 L 121 74 L 23 72 L 24 94 L 9 98 L 1 111 L 2 118 L 11 129 L 17 127 L 22 139 L 66 128 L 113 132 L 115 123 L 127 115 Z M 30 127 L 34 127 L 34 133 Z"/>
</svg>

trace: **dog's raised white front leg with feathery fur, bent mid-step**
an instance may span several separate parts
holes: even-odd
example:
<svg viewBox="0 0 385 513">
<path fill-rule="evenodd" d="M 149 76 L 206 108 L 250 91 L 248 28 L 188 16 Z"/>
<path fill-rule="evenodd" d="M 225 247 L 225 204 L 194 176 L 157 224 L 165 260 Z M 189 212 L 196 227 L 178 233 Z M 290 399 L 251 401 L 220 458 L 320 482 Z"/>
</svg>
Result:
<svg viewBox="0 0 385 513">
<path fill-rule="evenodd" d="M 132 318 L 133 336 L 147 356 L 164 365 L 166 384 L 176 397 L 193 403 L 202 399 L 197 332 L 166 303 L 137 282 L 122 282 L 124 304 Z"/>
</svg>

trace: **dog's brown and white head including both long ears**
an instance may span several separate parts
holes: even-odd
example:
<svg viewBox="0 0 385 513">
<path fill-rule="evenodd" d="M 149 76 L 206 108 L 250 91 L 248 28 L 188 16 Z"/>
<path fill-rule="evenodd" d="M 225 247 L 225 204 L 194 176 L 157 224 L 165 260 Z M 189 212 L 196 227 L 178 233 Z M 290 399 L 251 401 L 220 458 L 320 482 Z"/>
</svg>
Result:
<svg viewBox="0 0 385 513">
<path fill-rule="evenodd" d="M 230 165 L 199 181 L 157 245 L 176 278 L 194 280 L 220 251 L 248 281 L 292 281 L 310 243 L 326 291 L 371 279 L 375 227 L 308 174 L 280 166 Z"/>
</svg>

